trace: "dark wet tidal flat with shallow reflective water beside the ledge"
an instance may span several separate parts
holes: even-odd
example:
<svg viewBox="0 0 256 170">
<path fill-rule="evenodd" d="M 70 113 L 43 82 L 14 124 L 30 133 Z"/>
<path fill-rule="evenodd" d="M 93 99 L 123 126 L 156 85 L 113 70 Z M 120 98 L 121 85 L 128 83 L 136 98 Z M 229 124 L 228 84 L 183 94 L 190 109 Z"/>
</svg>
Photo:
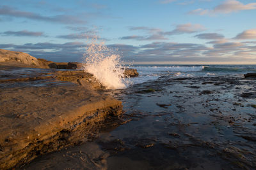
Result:
<svg viewBox="0 0 256 170">
<path fill-rule="evenodd" d="M 123 102 L 126 122 L 24 169 L 256 168 L 255 78 L 163 76 L 102 93 Z"/>
</svg>

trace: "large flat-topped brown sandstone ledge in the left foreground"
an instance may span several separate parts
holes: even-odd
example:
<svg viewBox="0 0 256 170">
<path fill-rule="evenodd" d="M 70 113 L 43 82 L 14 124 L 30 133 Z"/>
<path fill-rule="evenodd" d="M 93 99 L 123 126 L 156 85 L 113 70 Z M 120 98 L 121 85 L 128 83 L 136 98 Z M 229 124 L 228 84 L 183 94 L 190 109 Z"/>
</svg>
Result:
<svg viewBox="0 0 256 170">
<path fill-rule="evenodd" d="M 122 112 L 122 102 L 78 85 L 1 89 L 0 103 L 0 169 L 79 143 Z"/>
</svg>

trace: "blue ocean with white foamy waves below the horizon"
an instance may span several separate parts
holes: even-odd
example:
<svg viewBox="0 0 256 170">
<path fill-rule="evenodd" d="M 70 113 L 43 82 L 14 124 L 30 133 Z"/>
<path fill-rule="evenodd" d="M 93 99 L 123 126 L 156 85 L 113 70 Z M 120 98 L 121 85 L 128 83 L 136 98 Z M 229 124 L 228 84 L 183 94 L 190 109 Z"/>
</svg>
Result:
<svg viewBox="0 0 256 170">
<path fill-rule="evenodd" d="M 154 81 L 161 76 L 178 77 L 212 77 L 256 73 L 256 65 L 173 65 L 173 64 L 134 64 L 128 66 L 137 69 L 140 76 L 132 78 L 132 84 Z"/>
</svg>

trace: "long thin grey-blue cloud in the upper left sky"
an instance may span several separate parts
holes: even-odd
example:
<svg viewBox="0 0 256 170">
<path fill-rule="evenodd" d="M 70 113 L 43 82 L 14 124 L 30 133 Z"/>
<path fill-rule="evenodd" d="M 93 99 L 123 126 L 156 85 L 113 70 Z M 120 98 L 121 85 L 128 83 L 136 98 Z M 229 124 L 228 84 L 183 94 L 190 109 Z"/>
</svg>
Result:
<svg viewBox="0 0 256 170">
<path fill-rule="evenodd" d="M 72 15 L 55 15 L 46 17 L 37 13 L 15 10 L 9 6 L 1 6 L 0 15 L 16 18 L 28 18 L 31 20 L 40 20 L 45 22 L 58 22 L 61 24 L 86 24 L 85 20 L 81 20 L 78 17 Z"/>
</svg>

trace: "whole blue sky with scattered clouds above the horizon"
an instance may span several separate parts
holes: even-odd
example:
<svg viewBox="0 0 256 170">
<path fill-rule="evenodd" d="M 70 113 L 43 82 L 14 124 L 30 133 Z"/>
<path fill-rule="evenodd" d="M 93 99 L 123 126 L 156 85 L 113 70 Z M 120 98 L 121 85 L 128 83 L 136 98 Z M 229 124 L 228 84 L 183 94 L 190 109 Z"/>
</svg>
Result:
<svg viewBox="0 0 256 170">
<path fill-rule="evenodd" d="M 0 48 L 81 62 L 97 38 L 133 64 L 256 64 L 256 1 L 0 0 Z"/>
</svg>

